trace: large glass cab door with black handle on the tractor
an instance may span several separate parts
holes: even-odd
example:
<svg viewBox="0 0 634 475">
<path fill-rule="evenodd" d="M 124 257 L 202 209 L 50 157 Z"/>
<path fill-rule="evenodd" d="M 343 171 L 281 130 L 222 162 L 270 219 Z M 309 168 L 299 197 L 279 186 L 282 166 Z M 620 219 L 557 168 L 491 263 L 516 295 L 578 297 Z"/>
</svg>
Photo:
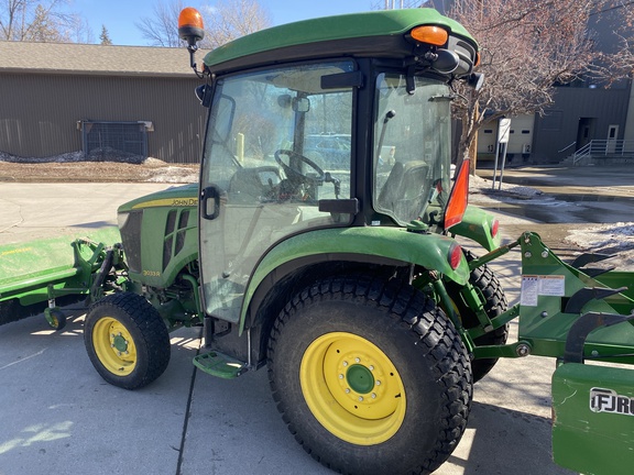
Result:
<svg viewBox="0 0 634 475">
<path fill-rule="evenodd" d="M 351 68 L 351 62 L 296 65 L 217 81 L 199 196 L 208 314 L 238 322 L 251 275 L 275 243 L 347 223 L 318 205 L 350 198 L 350 151 L 331 161 L 309 150 L 305 137 L 321 131 L 350 137 L 352 89 L 320 84 Z"/>
</svg>

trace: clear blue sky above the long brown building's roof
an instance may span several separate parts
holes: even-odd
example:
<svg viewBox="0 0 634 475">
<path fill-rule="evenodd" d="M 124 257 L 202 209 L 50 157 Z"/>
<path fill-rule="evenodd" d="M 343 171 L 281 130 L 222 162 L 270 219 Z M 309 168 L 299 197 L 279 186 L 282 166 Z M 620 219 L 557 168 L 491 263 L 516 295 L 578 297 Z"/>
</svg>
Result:
<svg viewBox="0 0 634 475">
<path fill-rule="evenodd" d="M 72 0 L 68 10 L 84 16 L 99 42 L 101 25 L 106 25 L 112 43 L 116 45 L 146 45 L 134 26 L 143 16 L 152 16 L 156 0 Z M 168 2 L 170 0 L 164 0 Z M 382 0 L 259 0 L 271 14 L 274 25 L 342 13 L 368 11 L 384 4 Z M 199 7 L 203 1 L 187 0 L 185 4 Z M 207 3 L 215 4 L 209 0 Z M 175 25 L 176 27 L 176 25 Z"/>
</svg>

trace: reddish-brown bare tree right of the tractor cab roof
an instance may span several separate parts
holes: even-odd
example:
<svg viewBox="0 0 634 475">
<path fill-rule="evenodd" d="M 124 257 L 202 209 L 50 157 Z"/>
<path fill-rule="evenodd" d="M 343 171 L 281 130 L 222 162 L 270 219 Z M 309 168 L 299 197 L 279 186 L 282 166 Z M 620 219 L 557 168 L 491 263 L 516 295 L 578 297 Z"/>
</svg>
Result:
<svg viewBox="0 0 634 475">
<path fill-rule="evenodd" d="M 620 9 L 614 34 L 617 51 L 599 51 L 598 24 L 611 8 Z M 634 2 L 620 0 L 457 0 L 447 14 L 462 23 L 480 44 L 484 87 L 462 90 L 457 104 L 462 122 L 461 156 L 474 157 L 473 143 L 485 122 L 501 117 L 543 114 L 553 104 L 557 85 L 593 75 L 622 77 L 632 70 L 625 58 Z M 620 68 L 616 70 L 616 65 Z M 472 167 L 474 161 L 471 162 Z"/>
</svg>

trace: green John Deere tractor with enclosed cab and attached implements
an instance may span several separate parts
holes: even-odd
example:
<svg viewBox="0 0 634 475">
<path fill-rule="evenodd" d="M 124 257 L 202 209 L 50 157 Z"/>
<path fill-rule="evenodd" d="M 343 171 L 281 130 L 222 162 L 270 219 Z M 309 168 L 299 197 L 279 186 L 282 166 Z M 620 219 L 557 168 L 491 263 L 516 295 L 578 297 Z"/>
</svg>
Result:
<svg viewBox="0 0 634 475">
<path fill-rule="evenodd" d="M 0 274 L 0 303 L 47 300 L 61 327 L 55 297 L 88 295 L 88 355 L 128 389 L 165 371 L 171 330 L 200 325 L 198 368 L 266 366 L 295 439 L 350 474 L 434 472 L 498 358 L 554 356 L 556 461 L 630 473 L 631 372 L 584 360 L 634 363 L 633 277 L 587 269 L 592 256 L 566 264 L 529 232 L 500 246 L 496 220 L 468 205 L 450 109 L 455 86 L 482 76 L 459 23 L 430 9 L 316 19 L 241 37 L 201 66 L 194 9 L 179 34 L 209 109 L 200 183 L 122 205 L 121 244 L 78 243 L 87 255 L 36 284 Z M 487 264 L 513 247 L 522 298 L 507 308 Z M 601 472 L 616 452 L 622 464 Z"/>
</svg>

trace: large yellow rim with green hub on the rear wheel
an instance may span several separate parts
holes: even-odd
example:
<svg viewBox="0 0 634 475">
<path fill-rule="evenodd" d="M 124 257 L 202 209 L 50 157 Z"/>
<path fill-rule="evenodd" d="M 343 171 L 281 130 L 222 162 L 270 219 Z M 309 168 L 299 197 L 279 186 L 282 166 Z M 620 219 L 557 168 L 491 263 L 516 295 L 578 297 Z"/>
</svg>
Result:
<svg viewBox="0 0 634 475">
<path fill-rule="evenodd" d="M 405 388 L 376 345 L 352 333 L 319 336 L 299 367 L 302 393 L 330 433 L 357 445 L 389 440 L 405 419 Z"/>
</svg>

